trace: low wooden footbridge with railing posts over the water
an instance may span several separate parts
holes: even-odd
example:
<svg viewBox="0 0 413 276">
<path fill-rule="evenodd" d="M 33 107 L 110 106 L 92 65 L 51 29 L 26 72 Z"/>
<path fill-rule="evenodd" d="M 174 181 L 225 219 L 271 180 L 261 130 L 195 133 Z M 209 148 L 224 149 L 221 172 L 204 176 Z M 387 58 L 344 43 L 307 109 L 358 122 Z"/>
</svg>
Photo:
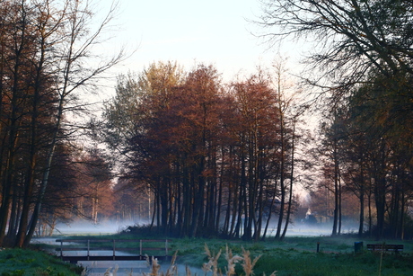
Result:
<svg viewBox="0 0 413 276">
<path fill-rule="evenodd" d="M 57 239 L 63 261 L 144 261 L 148 257 L 171 259 L 168 240 L 155 239 Z M 162 245 L 162 246 L 161 246 Z M 67 254 L 72 252 L 72 254 Z M 73 254 L 75 253 L 75 254 Z"/>
</svg>

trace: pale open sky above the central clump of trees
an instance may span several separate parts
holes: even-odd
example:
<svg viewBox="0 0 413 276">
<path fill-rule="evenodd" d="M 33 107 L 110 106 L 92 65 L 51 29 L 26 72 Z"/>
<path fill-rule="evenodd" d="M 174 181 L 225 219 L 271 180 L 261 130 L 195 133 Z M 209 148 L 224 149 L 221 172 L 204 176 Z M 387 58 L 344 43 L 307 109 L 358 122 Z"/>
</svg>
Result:
<svg viewBox="0 0 413 276">
<path fill-rule="evenodd" d="M 111 1 L 99 3 L 104 9 Z M 108 47 L 136 49 L 117 68 L 119 74 L 171 60 L 186 70 L 212 64 L 229 82 L 237 74 L 249 76 L 257 66 L 268 66 L 279 51 L 253 35 L 262 31 L 250 22 L 259 19 L 259 0 L 119 0 L 119 4 L 119 31 Z M 291 58 L 292 48 L 281 52 Z"/>
</svg>

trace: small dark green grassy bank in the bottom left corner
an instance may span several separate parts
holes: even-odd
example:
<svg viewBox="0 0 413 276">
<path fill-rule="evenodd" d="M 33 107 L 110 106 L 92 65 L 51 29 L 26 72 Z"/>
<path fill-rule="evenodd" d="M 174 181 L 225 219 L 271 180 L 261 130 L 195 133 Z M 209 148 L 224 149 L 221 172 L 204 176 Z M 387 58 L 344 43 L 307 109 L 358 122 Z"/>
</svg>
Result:
<svg viewBox="0 0 413 276">
<path fill-rule="evenodd" d="M 1 276 L 75 276 L 82 271 L 83 268 L 62 263 L 57 257 L 42 251 L 18 248 L 0 250 Z"/>
</svg>

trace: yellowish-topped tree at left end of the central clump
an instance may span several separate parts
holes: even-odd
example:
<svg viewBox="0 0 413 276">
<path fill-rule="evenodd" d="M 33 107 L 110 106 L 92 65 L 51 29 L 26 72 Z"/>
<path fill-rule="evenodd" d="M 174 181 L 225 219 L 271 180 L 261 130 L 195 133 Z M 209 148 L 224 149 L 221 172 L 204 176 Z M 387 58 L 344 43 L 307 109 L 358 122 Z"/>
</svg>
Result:
<svg viewBox="0 0 413 276">
<path fill-rule="evenodd" d="M 168 211 L 171 207 L 168 199 L 175 192 L 171 186 L 175 179 L 174 156 L 179 154 L 179 137 L 175 132 L 180 131 L 181 121 L 175 114 L 178 110 L 171 105 L 177 104 L 173 101 L 177 100 L 176 87 L 182 85 L 183 74 L 176 63 L 160 62 L 136 78 L 120 76 L 117 95 L 106 103 L 105 129 L 110 133 L 106 141 L 123 154 L 125 177 L 134 180 L 136 189 L 151 188 L 155 198 L 154 218 L 167 231 L 168 214 L 177 210 Z"/>
</svg>

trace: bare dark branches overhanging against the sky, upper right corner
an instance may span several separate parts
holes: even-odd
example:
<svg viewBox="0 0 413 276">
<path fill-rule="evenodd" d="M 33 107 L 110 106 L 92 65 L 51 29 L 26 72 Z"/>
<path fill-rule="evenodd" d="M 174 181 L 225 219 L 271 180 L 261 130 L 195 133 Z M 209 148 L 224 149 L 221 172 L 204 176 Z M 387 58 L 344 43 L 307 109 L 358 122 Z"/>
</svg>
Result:
<svg viewBox="0 0 413 276">
<path fill-rule="evenodd" d="M 263 1 L 260 24 L 268 40 L 288 36 L 312 40 L 308 61 L 334 85 L 365 81 L 374 68 L 384 76 L 412 74 L 413 9 L 410 1 Z M 324 86 L 319 81 L 312 84 Z M 338 92 L 338 91 L 337 91 Z"/>
</svg>

